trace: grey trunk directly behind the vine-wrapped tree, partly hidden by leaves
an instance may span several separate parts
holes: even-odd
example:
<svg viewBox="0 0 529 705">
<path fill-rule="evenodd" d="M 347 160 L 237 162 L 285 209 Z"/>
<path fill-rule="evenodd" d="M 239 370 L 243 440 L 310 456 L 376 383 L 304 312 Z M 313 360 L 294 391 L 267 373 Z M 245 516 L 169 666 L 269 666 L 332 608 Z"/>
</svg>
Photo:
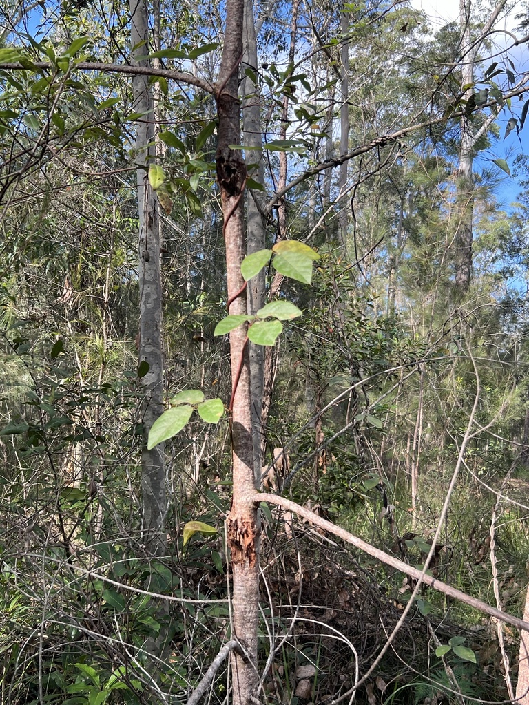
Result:
<svg viewBox="0 0 529 705">
<path fill-rule="evenodd" d="M 255 38 L 255 19 L 252 0 L 245 0 L 244 35 L 243 35 L 243 72 L 250 68 L 257 72 L 257 41 Z M 262 164 L 262 135 L 260 121 L 260 94 L 250 76 L 245 75 L 243 92 L 243 142 L 245 147 L 252 147 L 247 160 L 255 165 L 248 168 L 248 174 L 261 185 L 265 185 Z M 248 255 L 266 247 L 266 228 L 262 215 L 257 208 L 257 192 L 248 192 L 246 199 L 246 228 Z M 265 305 L 266 271 L 262 269 L 248 282 L 248 313 L 255 314 Z M 253 430 L 253 465 L 257 486 L 260 486 L 262 457 L 265 449 L 265 434 L 262 428 L 262 396 L 265 384 L 265 353 L 262 345 L 248 343 L 250 352 L 250 380 L 252 391 L 252 430 Z"/>
</svg>

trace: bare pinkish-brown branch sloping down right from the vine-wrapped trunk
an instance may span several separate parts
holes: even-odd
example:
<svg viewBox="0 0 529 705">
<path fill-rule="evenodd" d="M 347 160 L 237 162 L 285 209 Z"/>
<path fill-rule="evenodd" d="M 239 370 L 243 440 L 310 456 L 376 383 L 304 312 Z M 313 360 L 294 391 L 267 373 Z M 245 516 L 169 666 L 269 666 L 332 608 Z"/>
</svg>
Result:
<svg viewBox="0 0 529 705">
<path fill-rule="evenodd" d="M 358 539 L 358 537 L 353 536 L 353 534 L 350 534 L 345 529 L 341 529 L 341 527 L 336 526 L 336 524 L 333 524 L 326 519 L 322 519 L 322 517 L 319 517 L 314 512 L 311 512 L 309 509 L 305 509 L 305 507 L 300 507 L 300 505 L 296 504 L 296 502 L 293 502 L 286 497 L 281 497 L 277 494 L 269 494 L 267 492 L 258 492 L 253 496 L 253 501 L 256 504 L 259 504 L 260 502 L 276 504 L 279 507 L 295 512 L 300 517 L 308 519 L 317 527 L 320 527 L 320 529 L 325 529 L 325 531 L 340 537 L 343 541 L 346 541 L 346 543 L 352 544 L 355 548 L 359 548 L 360 551 L 364 551 L 364 553 L 367 553 L 369 556 L 377 558 L 377 560 L 380 560 L 381 563 L 391 565 L 392 568 L 396 568 L 396 570 L 400 570 L 401 572 L 406 573 L 406 575 L 411 575 L 411 577 L 414 577 L 417 580 L 422 580 L 422 582 L 430 587 L 433 587 L 435 590 L 438 590 L 449 597 L 453 597 L 456 600 L 464 602 L 468 606 L 473 607 L 480 612 L 490 615 L 491 617 L 495 617 L 496 619 L 506 622 L 507 624 L 511 624 L 513 627 L 518 627 L 519 630 L 529 632 L 529 622 L 524 622 L 523 620 L 518 619 L 518 617 L 513 617 L 513 615 L 509 615 L 506 612 L 496 609 L 495 607 L 491 607 L 477 597 L 472 597 L 471 595 L 466 594 L 466 592 L 462 592 L 455 587 L 451 587 L 431 575 L 422 572 L 422 570 L 418 570 L 418 568 L 413 568 L 412 565 L 404 563 L 403 560 L 390 556 L 389 553 L 385 553 L 379 548 L 371 546 L 371 544 L 366 544 L 365 541 Z"/>
</svg>

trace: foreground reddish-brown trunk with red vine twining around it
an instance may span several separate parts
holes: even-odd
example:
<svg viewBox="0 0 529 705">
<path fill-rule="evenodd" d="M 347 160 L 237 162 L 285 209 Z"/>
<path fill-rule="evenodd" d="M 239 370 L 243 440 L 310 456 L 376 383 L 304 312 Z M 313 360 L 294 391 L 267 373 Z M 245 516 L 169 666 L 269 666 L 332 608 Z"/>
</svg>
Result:
<svg viewBox="0 0 529 705">
<path fill-rule="evenodd" d="M 241 275 L 241 262 L 245 257 L 243 192 L 246 172 L 241 150 L 229 147 L 241 144 L 241 101 L 237 87 L 243 53 L 243 8 L 244 0 L 227 0 L 217 94 L 217 180 L 224 216 L 228 301 L 232 315 L 247 312 Z M 233 637 L 246 651 L 246 656 L 235 651 L 231 654 L 234 705 L 247 705 L 258 683 L 259 541 L 257 508 L 253 501 L 252 400 L 246 330 L 247 326 L 239 326 L 230 333 L 233 498 L 226 529 L 233 571 Z"/>
</svg>

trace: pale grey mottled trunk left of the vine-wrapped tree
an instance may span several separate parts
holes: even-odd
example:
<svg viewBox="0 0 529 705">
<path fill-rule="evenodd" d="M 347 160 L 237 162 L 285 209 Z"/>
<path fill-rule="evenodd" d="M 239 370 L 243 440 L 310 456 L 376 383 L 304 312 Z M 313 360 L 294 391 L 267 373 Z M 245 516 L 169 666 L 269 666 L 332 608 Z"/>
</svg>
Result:
<svg viewBox="0 0 529 705">
<path fill-rule="evenodd" d="M 149 22 L 145 0 L 130 0 L 130 43 L 133 61 L 148 66 L 147 59 L 136 57 L 148 53 Z M 147 551 L 164 553 L 166 536 L 166 487 L 164 445 L 147 450 L 147 436 L 154 421 L 163 412 L 162 362 L 162 286 L 159 264 L 159 216 L 157 198 L 150 187 L 147 170 L 152 159 L 154 137 L 152 93 L 148 76 L 133 77 L 134 110 L 141 114 L 136 123 L 136 163 L 138 164 L 138 215 L 140 223 L 140 362 L 149 370 L 142 376 L 143 450 L 142 450 L 142 523 Z"/>
</svg>

